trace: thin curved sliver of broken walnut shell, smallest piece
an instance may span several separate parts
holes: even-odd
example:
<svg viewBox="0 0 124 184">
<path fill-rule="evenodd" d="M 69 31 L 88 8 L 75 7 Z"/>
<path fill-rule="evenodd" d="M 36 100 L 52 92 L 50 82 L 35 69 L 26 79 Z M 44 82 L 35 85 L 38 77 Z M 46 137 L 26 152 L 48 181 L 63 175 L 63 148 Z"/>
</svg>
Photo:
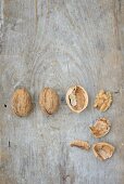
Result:
<svg viewBox="0 0 124 184">
<path fill-rule="evenodd" d="M 70 143 L 70 145 L 72 147 L 76 146 L 76 147 L 79 147 L 79 148 L 86 149 L 86 150 L 89 150 L 89 148 L 90 148 L 89 143 L 86 141 L 82 141 L 82 140 L 74 140 L 73 142 Z"/>
</svg>

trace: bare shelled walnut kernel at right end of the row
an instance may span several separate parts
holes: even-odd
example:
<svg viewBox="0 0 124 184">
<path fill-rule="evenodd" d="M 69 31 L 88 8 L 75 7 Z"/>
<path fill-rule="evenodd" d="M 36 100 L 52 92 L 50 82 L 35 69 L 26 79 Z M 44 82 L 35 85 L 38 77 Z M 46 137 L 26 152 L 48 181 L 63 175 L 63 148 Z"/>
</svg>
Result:
<svg viewBox="0 0 124 184">
<path fill-rule="evenodd" d="M 94 107 L 99 109 L 100 111 L 106 111 L 112 104 L 112 94 L 110 92 L 106 92 L 101 90 L 95 101 Z"/>
</svg>

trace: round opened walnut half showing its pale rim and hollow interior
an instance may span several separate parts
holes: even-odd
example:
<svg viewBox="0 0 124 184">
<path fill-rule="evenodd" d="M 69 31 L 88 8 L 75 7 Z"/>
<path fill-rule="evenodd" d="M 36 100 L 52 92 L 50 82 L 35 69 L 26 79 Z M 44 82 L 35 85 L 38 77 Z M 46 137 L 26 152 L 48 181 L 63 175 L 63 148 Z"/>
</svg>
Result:
<svg viewBox="0 0 124 184">
<path fill-rule="evenodd" d="M 80 86 L 71 87 L 66 93 L 66 104 L 75 113 L 83 111 L 88 105 L 88 94 Z"/>
</svg>

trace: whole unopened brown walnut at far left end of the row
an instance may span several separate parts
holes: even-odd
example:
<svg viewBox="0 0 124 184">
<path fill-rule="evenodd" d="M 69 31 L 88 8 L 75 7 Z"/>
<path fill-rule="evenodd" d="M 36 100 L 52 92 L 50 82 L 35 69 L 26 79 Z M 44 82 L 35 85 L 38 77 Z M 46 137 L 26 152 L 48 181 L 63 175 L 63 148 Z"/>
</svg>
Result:
<svg viewBox="0 0 124 184">
<path fill-rule="evenodd" d="M 20 117 L 27 116 L 33 109 L 32 96 L 25 88 L 14 91 L 12 96 L 12 109 Z"/>
</svg>

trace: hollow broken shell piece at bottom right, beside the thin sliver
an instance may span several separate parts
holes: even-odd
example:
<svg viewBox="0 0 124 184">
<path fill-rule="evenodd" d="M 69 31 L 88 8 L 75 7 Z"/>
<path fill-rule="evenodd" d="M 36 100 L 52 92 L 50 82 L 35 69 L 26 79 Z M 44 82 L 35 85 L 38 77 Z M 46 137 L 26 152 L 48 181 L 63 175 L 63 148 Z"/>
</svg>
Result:
<svg viewBox="0 0 124 184">
<path fill-rule="evenodd" d="M 92 145 L 92 152 L 100 160 L 111 158 L 114 153 L 114 147 L 109 143 L 96 143 Z"/>
</svg>

